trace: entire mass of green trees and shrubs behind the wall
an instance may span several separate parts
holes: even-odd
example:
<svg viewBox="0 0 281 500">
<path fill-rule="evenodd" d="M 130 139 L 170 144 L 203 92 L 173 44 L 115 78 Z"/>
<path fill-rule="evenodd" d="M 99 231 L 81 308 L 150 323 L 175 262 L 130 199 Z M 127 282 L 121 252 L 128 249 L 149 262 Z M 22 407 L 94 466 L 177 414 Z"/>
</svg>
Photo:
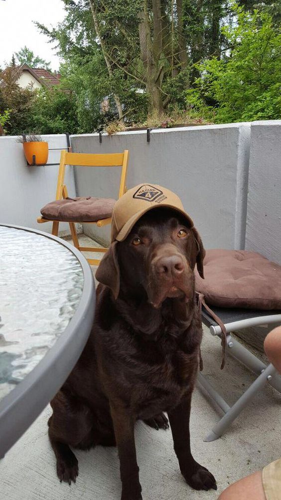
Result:
<svg viewBox="0 0 281 500">
<path fill-rule="evenodd" d="M 60 24 L 37 23 L 64 61 L 61 83 L 21 89 L 3 73 L 7 133 L 280 118 L 279 0 L 62 1 Z M 26 46 L 15 55 L 49 69 Z"/>
</svg>

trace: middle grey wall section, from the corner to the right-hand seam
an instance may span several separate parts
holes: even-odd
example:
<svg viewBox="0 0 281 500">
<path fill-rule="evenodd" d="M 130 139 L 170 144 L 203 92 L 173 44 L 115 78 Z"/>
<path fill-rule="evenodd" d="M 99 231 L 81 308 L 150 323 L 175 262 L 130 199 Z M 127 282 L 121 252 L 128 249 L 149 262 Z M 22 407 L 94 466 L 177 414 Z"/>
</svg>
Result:
<svg viewBox="0 0 281 500">
<path fill-rule="evenodd" d="M 175 129 L 72 136 L 76 152 L 129 149 L 128 188 L 158 183 L 175 191 L 198 227 L 207 248 L 244 248 L 250 124 L 234 123 Z M 120 169 L 76 167 L 77 194 L 117 197 Z M 108 240 L 109 228 L 84 225 Z"/>
</svg>

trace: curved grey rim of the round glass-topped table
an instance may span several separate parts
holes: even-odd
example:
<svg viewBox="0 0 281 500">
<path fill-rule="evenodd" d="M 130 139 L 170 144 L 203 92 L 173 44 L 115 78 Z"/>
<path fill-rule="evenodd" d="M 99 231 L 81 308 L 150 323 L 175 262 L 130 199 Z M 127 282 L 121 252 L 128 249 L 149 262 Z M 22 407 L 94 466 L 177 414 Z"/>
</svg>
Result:
<svg viewBox="0 0 281 500">
<path fill-rule="evenodd" d="M 79 304 L 63 333 L 35 368 L 0 401 L 1 458 L 41 413 L 76 364 L 93 323 L 95 285 L 87 259 L 71 243 L 58 236 L 29 227 L 1 222 L 0 226 L 33 232 L 57 241 L 75 255 L 82 267 L 84 276 L 83 291 Z M 78 330 L 79 335 L 77 335 Z M 45 387 L 43 385 L 44 381 Z"/>
</svg>

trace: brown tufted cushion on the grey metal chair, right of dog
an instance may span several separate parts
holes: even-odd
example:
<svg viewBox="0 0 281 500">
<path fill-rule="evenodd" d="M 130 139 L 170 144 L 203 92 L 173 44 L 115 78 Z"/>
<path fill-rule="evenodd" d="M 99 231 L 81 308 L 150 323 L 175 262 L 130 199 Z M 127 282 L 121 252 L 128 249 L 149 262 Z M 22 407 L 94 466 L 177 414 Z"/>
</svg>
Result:
<svg viewBox="0 0 281 500">
<path fill-rule="evenodd" d="M 204 276 L 195 271 L 195 286 L 209 305 L 281 309 L 281 265 L 260 253 L 207 250 Z"/>
</svg>

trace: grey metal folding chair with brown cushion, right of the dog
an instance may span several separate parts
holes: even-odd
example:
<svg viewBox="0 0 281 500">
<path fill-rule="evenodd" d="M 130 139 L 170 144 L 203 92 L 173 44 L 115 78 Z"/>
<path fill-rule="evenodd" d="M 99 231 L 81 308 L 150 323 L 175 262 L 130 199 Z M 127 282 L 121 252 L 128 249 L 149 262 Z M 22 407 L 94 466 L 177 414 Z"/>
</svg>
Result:
<svg viewBox="0 0 281 500">
<path fill-rule="evenodd" d="M 199 373 L 198 382 L 225 413 L 204 439 L 205 441 L 213 441 L 228 429 L 243 408 L 267 383 L 281 393 L 281 376 L 274 366 L 263 363 L 231 335 L 232 332 L 250 326 L 271 325 L 274 328 L 281 324 L 281 305 L 279 305 L 281 303 L 281 266 L 270 262 L 258 253 L 243 250 L 207 250 L 204 263 L 206 263 L 204 266 L 206 284 L 203 284 L 205 280 L 196 273 L 197 291 L 203 293 L 205 301 L 208 302 L 208 305 L 205 302 L 206 307 L 204 307 L 203 301 L 202 322 L 210 328 L 212 335 L 225 342 L 227 354 L 231 353 L 258 375 L 233 406 L 229 406 L 205 376 L 201 372 Z M 239 269 L 238 273 L 236 269 Z M 214 276 L 218 279 L 212 290 Z M 240 276 L 241 283 L 239 285 Z M 268 287 L 264 279 L 265 276 L 268 278 L 266 280 L 269 284 Z M 243 283 L 248 284 L 248 289 L 245 289 Z M 236 293 L 239 288 L 240 297 Z M 259 297 L 262 295 L 263 289 L 264 296 Z M 225 296 L 226 290 L 229 291 L 228 297 Z M 258 298 L 258 302 L 260 301 L 267 308 L 246 308 L 251 304 L 251 294 L 253 293 L 256 297 L 253 298 L 252 303 L 255 304 Z M 227 305 L 226 307 L 210 305 L 210 300 L 211 303 L 217 301 L 219 303 L 225 302 Z M 231 307 L 232 303 L 233 307 Z M 238 304 L 242 304 L 242 307 L 239 307 Z M 269 309 L 269 306 L 275 306 L 275 308 Z"/>
</svg>

